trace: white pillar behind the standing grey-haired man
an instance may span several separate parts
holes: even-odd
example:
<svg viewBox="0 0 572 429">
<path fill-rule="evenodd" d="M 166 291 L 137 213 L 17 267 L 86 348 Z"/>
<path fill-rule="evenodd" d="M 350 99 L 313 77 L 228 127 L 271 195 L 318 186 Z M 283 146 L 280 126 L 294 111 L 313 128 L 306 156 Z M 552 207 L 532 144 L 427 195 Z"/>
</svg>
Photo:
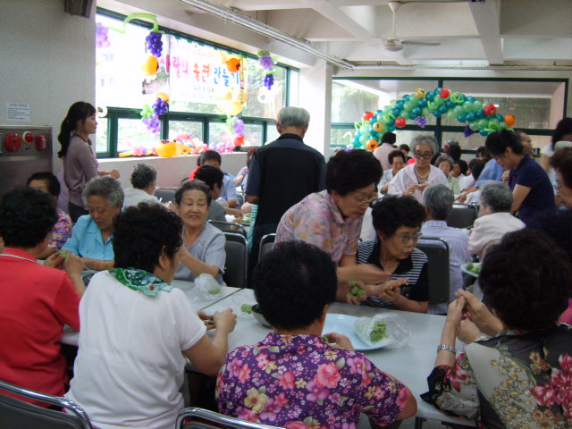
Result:
<svg viewBox="0 0 572 429">
<path fill-rule="evenodd" d="M 330 158 L 330 126 L 332 123 L 333 66 L 316 60 L 313 67 L 300 70 L 299 107 L 310 113 L 310 126 L 304 142 Z"/>
</svg>

